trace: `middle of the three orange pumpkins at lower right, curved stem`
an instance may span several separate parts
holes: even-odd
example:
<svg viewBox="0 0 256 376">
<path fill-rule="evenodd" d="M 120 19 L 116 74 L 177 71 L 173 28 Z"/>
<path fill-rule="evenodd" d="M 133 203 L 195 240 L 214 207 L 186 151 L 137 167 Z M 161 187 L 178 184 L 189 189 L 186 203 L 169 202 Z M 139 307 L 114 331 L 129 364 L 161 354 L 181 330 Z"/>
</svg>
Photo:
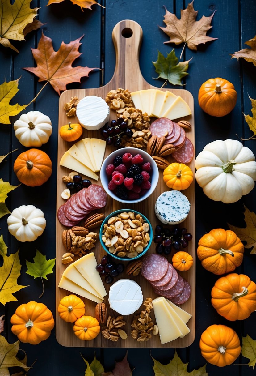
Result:
<svg viewBox="0 0 256 376">
<path fill-rule="evenodd" d="M 227 320 L 245 320 L 256 310 L 256 284 L 245 274 L 227 274 L 212 288 L 212 305 Z"/>
</svg>

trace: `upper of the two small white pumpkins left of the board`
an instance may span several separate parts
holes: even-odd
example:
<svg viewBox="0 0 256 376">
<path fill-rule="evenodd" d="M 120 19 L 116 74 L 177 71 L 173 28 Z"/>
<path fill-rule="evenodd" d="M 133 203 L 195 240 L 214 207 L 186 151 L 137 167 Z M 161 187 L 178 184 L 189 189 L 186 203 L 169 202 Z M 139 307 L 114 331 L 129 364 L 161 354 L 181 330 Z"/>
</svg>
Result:
<svg viewBox="0 0 256 376">
<path fill-rule="evenodd" d="M 22 114 L 14 123 L 15 136 L 23 146 L 42 146 L 46 144 L 53 128 L 51 120 L 40 111 Z"/>
</svg>

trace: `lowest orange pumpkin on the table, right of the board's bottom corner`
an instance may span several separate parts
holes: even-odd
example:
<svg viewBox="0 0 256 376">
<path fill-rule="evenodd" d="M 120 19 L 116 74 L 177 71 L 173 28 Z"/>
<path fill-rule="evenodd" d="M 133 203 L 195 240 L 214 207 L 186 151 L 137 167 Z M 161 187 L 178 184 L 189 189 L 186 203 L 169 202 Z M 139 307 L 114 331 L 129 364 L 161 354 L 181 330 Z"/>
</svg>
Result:
<svg viewBox="0 0 256 376">
<path fill-rule="evenodd" d="M 241 353 L 236 332 L 226 325 L 211 325 L 201 335 L 199 347 L 208 363 L 224 367 Z"/>
</svg>

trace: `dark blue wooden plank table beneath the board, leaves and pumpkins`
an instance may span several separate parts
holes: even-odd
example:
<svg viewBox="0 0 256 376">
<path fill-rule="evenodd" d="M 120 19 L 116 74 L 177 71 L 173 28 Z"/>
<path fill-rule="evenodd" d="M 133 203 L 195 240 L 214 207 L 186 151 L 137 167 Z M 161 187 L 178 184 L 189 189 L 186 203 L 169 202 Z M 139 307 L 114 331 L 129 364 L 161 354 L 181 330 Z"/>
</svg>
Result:
<svg viewBox="0 0 256 376">
<path fill-rule="evenodd" d="M 53 4 L 46 7 L 46 0 L 33 0 L 31 7 L 41 7 L 39 10 L 39 20 L 45 24 L 42 29 L 44 34 L 53 39 L 53 47 L 59 49 L 60 43 L 64 40 L 68 43 L 77 39 L 83 33 L 80 52 L 83 53 L 74 65 L 104 68 L 103 72 L 94 71 L 90 73 L 89 79 L 82 79 L 81 84 L 69 85 L 68 88 L 92 88 L 107 83 L 114 72 L 115 53 L 111 40 L 111 32 L 114 25 L 123 19 L 132 19 L 137 21 L 143 29 L 143 43 L 140 52 L 140 67 L 145 79 L 152 85 L 161 86 L 163 82 L 152 79 L 157 77 L 152 61 L 157 59 L 157 50 L 164 55 L 170 52 L 174 45 L 163 44 L 168 37 L 158 28 L 164 26 L 163 5 L 170 12 L 174 12 L 179 17 L 180 9 L 186 8 L 186 0 L 167 0 L 148 2 L 144 0 L 103 0 L 101 4 L 105 9 L 93 5 L 92 10 L 81 12 L 78 6 L 66 0 L 60 4 Z M 183 55 L 184 60 L 193 57 L 188 69 L 189 76 L 184 79 L 186 84 L 184 88 L 189 90 L 194 96 L 195 102 L 195 132 L 196 132 L 196 155 L 203 147 L 215 139 L 236 139 L 236 133 L 243 138 L 251 136 L 247 124 L 244 121 L 244 115 L 250 113 L 251 103 L 247 93 L 256 98 L 256 68 L 252 63 L 243 59 L 237 61 L 230 58 L 230 54 L 244 47 L 244 42 L 255 35 L 256 25 L 256 2 L 254 0 L 216 0 L 213 2 L 206 0 L 195 0 L 194 8 L 198 10 L 198 17 L 202 15 L 210 16 L 216 9 L 217 12 L 212 20 L 212 29 L 208 32 L 209 36 L 218 38 L 206 45 L 200 45 L 197 52 L 192 52 L 187 47 Z M 13 103 L 29 103 L 35 97 L 36 93 L 42 88 L 43 83 L 38 83 L 38 79 L 31 73 L 21 70 L 22 67 L 33 67 L 33 61 L 30 47 L 35 48 L 38 44 L 41 31 L 31 32 L 27 35 L 26 41 L 14 42 L 14 45 L 20 50 L 20 54 L 0 45 L 0 83 L 17 79 L 21 76 L 19 87 L 20 91 L 15 96 Z M 175 46 L 176 55 L 179 56 L 183 45 Z M 238 92 L 238 100 L 235 109 L 231 114 L 223 118 L 214 118 L 205 114 L 198 105 L 197 94 L 200 85 L 210 77 L 223 77 L 235 86 Z M 171 87 L 169 84 L 167 87 Z M 178 86 L 176 86 L 178 87 Z M 115 89 L 115 88 L 113 88 Z M 47 114 L 53 123 L 53 135 L 50 141 L 42 146 L 53 161 L 53 174 L 51 178 L 41 187 L 29 188 L 21 185 L 16 191 L 9 194 L 6 200 L 8 208 L 13 210 L 20 205 L 33 204 L 44 211 L 47 227 L 43 235 L 32 243 L 20 243 L 12 237 L 7 228 L 7 216 L 0 220 L 1 232 L 8 245 L 9 251 L 16 252 L 20 247 L 20 259 L 22 264 L 19 284 L 30 285 L 26 289 L 15 293 L 18 302 L 7 303 L 0 306 L 0 315 L 6 315 L 5 332 L 3 335 L 9 343 L 17 340 L 11 332 L 10 318 L 17 306 L 30 300 L 37 300 L 41 294 L 41 280 L 33 280 L 25 273 L 26 259 L 32 261 L 35 255 L 35 249 L 39 249 L 47 255 L 47 258 L 55 257 L 55 221 L 56 221 L 56 169 L 57 169 L 57 132 L 58 132 L 58 107 L 59 96 L 50 85 L 42 91 L 36 103 L 30 105 L 26 111 L 38 110 Z M 17 116 L 16 118 L 18 118 Z M 12 118 L 12 124 L 16 120 Z M 18 139 L 14 136 L 12 125 L 0 126 L 1 146 L 0 154 L 6 154 L 10 150 L 18 148 L 18 152 L 8 156 L 0 165 L 0 176 L 3 180 L 17 185 L 18 180 L 13 172 L 13 164 L 18 153 L 26 148 L 21 146 Z M 245 145 L 256 153 L 255 140 L 245 141 Z M 196 242 L 206 232 L 217 227 L 227 229 L 227 222 L 236 226 L 244 226 L 243 204 L 251 211 L 256 211 L 254 190 L 234 204 L 225 205 L 215 203 L 209 200 L 199 186 L 196 186 Z M 256 256 L 250 255 L 245 250 L 244 261 L 237 273 L 247 274 L 256 282 Z M 45 293 L 42 303 L 45 303 L 52 312 L 55 312 L 55 276 L 50 274 L 48 281 L 45 281 Z M 183 362 L 189 362 L 188 371 L 198 368 L 205 364 L 199 350 L 199 339 L 202 332 L 211 324 L 226 324 L 232 327 L 238 333 L 239 337 L 249 334 L 256 339 L 256 314 L 251 314 L 245 321 L 227 321 L 219 316 L 211 305 L 211 288 L 217 280 L 217 277 L 204 270 L 200 262 L 196 261 L 196 338 L 194 343 L 187 349 L 178 349 L 178 355 Z M 37 359 L 33 369 L 29 371 L 31 376 L 43 375 L 72 375 L 82 376 L 85 370 L 85 363 L 81 358 L 80 352 L 84 358 L 91 361 L 96 356 L 104 364 L 105 369 L 111 370 L 114 367 L 114 361 L 120 360 L 125 355 L 124 349 L 81 349 L 65 348 L 60 346 L 55 338 L 54 331 L 50 338 L 36 346 L 22 344 L 28 356 L 28 364 Z M 152 355 L 158 361 L 167 363 L 173 358 L 174 349 L 130 349 L 128 360 L 134 370 L 134 376 L 153 375 Z M 248 359 L 240 356 L 237 363 L 245 364 Z M 213 365 L 207 365 L 209 376 L 230 375 L 233 376 L 251 376 L 255 370 L 247 365 L 230 365 L 224 368 L 218 368 Z"/>
</svg>

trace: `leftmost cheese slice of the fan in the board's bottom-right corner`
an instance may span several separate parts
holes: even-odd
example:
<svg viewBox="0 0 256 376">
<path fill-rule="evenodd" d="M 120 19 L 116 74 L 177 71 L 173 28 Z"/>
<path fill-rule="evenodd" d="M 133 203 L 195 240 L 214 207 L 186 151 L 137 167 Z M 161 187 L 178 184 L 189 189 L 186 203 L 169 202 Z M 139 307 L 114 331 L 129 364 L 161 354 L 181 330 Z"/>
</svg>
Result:
<svg viewBox="0 0 256 376">
<path fill-rule="evenodd" d="M 162 297 L 160 297 L 162 298 Z M 157 321 L 161 344 L 176 340 L 182 335 L 178 325 L 173 320 L 163 299 L 154 299 L 152 302 L 155 319 Z"/>
</svg>

